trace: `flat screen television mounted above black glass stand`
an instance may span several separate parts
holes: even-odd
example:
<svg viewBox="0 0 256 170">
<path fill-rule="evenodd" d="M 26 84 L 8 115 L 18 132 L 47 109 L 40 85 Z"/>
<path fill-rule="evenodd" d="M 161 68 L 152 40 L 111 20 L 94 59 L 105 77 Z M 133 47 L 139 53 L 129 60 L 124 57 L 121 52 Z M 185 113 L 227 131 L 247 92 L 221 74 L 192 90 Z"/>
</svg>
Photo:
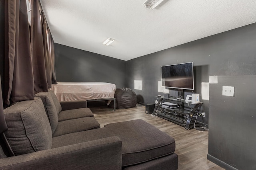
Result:
<svg viewBox="0 0 256 170">
<path fill-rule="evenodd" d="M 194 90 L 193 62 L 161 66 L 162 86 Z"/>
</svg>

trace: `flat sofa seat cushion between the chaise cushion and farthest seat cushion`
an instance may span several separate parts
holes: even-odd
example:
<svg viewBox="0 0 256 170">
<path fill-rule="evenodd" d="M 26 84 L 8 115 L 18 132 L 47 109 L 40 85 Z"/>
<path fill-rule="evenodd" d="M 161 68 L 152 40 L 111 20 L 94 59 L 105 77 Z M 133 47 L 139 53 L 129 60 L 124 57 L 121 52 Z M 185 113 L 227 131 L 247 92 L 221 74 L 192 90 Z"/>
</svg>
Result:
<svg viewBox="0 0 256 170">
<path fill-rule="evenodd" d="M 52 137 L 96 128 L 100 128 L 100 124 L 94 117 L 70 119 L 59 122 L 56 131 L 52 134 Z"/>
</svg>

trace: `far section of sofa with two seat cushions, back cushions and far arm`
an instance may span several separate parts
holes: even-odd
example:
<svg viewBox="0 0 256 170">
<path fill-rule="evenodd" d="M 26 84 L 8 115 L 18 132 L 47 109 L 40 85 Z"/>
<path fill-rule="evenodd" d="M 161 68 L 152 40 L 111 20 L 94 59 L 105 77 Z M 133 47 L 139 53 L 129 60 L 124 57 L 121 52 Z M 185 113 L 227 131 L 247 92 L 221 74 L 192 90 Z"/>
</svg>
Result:
<svg viewBox="0 0 256 170">
<path fill-rule="evenodd" d="M 71 102 L 72 104 L 70 102 L 59 102 L 52 90 L 40 92 L 36 94 L 36 97 L 41 98 L 44 104 L 52 129 L 52 137 L 100 128 L 100 124 L 94 119 L 92 111 L 87 108 L 86 101 Z M 75 103 L 79 106 L 74 107 Z M 66 105 L 70 105 L 72 108 Z"/>
</svg>

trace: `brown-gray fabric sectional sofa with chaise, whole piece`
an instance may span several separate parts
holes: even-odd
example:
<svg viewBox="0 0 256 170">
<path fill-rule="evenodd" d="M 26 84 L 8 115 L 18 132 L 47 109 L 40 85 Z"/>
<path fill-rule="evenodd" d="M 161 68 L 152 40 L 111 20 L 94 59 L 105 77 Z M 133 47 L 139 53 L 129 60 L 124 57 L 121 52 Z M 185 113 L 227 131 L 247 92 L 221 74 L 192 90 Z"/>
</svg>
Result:
<svg viewBox="0 0 256 170">
<path fill-rule="evenodd" d="M 100 128 L 86 102 L 60 103 L 52 91 L 4 114 L 0 169 L 178 168 L 174 139 L 156 127 L 138 119 Z"/>
</svg>

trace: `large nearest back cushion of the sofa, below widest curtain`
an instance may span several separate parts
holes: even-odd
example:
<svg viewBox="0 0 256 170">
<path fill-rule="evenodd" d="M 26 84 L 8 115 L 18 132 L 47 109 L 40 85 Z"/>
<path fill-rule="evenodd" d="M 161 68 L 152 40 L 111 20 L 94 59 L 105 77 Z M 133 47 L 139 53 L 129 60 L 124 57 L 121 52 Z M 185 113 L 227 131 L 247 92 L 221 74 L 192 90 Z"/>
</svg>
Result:
<svg viewBox="0 0 256 170">
<path fill-rule="evenodd" d="M 52 131 L 40 98 L 17 102 L 4 109 L 8 130 L 4 132 L 14 155 L 52 147 Z"/>
</svg>

